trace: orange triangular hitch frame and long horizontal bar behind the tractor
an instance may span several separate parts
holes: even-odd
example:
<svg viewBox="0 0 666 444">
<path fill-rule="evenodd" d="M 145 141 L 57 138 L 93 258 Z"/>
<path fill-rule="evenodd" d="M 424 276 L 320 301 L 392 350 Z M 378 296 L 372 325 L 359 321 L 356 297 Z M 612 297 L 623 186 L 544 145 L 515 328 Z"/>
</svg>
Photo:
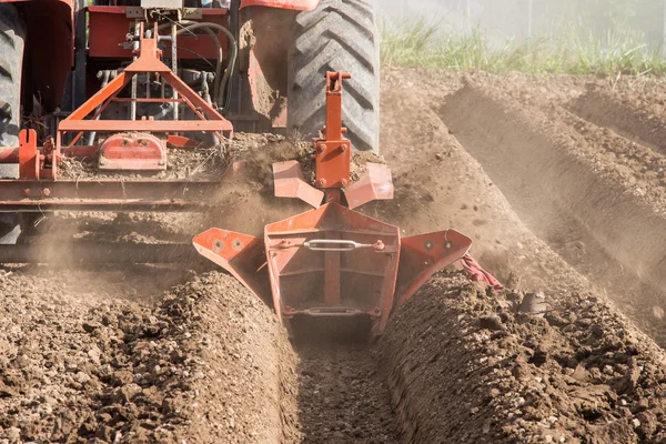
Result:
<svg viewBox="0 0 666 444">
<path fill-rule="evenodd" d="M 143 36 L 143 23 L 141 23 Z M 0 212 L 42 212 L 54 210 L 84 211 L 191 211 L 206 208 L 210 196 L 219 189 L 219 181 L 152 181 L 152 180 L 62 180 L 58 163 L 62 155 L 93 157 L 98 147 L 78 147 L 84 131 L 100 133 L 114 131 L 144 131 L 150 133 L 214 131 L 232 135 L 231 123 L 192 91 L 160 61 L 161 51 L 155 39 L 140 38 L 138 59 L 90 98 L 78 110 L 60 122 L 56 141 L 48 138 L 43 147 L 37 147 L 34 130 L 23 130 L 20 147 L 0 148 L 0 162 L 18 163 L 19 180 L 0 180 Z M 200 120 L 94 120 L 105 105 L 133 75 L 143 72 L 158 73 L 176 90 Z M 169 101 L 171 99 L 164 99 Z M 161 101 L 161 99 L 160 99 Z M 99 110 L 94 112 L 99 107 Z M 87 117 L 92 114 L 92 119 Z M 70 131 L 80 134 L 69 147 L 62 145 L 62 135 Z M 148 135 L 147 135 L 148 137 Z M 221 137 L 221 135 L 220 135 Z M 152 137 L 151 137 L 152 138 Z M 191 144 L 184 138 L 179 142 Z M 159 141 L 153 141 L 153 149 Z M 154 150 L 153 150 L 154 151 Z M 132 161 L 143 161 L 145 153 L 129 153 Z M 220 178 L 222 179 L 222 178 Z"/>
</svg>

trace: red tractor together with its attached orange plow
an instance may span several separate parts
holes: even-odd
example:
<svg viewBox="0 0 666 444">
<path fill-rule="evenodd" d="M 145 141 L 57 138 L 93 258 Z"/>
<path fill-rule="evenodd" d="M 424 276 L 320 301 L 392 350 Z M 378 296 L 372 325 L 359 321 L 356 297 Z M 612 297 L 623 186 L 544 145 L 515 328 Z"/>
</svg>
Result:
<svg viewBox="0 0 666 444">
<path fill-rule="evenodd" d="M 159 179 L 170 150 L 225 145 L 234 131 L 285 132 L 313 139 L 314 180 L 296 161 L 275 163 L 274 194 L 314 209 L 262 238 L 212 228 L 184 246 L 233 274 L 287 329 L 352 317 L 379 335 L 395 306 L 458 260 L 492 282 L 465 235 L 403 236 L 356 211 L 393 198 L 386 164 L 369 163 L 355 182 L 350 173 L 353 150 L 379 152 L 369 2 L 80 1 L 0 0 L 0 263 L 58 261 L 67 249 L 80 262 L 182 260 L 182 244 L 132 245 L 130 258 L 125 245 L 19 241 L 48 212 L 206 211 L 223 175 Z M 100 174 L 67 176 L 71 158 L 93 159 Z"/>
</svg>

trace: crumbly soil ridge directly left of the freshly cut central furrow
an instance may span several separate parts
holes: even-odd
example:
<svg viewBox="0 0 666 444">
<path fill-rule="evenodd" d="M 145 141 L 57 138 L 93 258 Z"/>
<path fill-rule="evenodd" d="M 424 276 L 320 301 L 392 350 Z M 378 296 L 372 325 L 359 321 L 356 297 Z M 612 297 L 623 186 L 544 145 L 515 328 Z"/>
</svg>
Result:
<svg viewBox="0 0 666 444">
<path fill-rule="evenodd" d="M 130 284 L 132 293 L 114 273 L 73 273 L 0 275 L 0 437 L 250 443 L 278 442 L 282 431 L 290 436 L 283 425 L 293 422 L 290 407 L 281 405 L 294 375 L 285 335 L 235 280 L 196 278 L 150 307 L 123 299 L 150 296 L 137 294 L 145 283 Z"/>
</svg>

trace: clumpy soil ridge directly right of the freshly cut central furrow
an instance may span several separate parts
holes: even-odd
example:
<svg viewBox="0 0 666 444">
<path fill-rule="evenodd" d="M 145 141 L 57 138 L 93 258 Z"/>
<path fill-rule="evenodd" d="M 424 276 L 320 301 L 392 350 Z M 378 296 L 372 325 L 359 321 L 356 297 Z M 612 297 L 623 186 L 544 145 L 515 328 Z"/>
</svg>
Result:
<svg viewBox="0 0 666 444">
<path fill-rule="evenodd" d="M 426 283 L 380 344 L 404 440 L 666 438 L 664 354 L 594 294 L 557 300 L 544 316 L 460 274 Z"/>
</svg>

